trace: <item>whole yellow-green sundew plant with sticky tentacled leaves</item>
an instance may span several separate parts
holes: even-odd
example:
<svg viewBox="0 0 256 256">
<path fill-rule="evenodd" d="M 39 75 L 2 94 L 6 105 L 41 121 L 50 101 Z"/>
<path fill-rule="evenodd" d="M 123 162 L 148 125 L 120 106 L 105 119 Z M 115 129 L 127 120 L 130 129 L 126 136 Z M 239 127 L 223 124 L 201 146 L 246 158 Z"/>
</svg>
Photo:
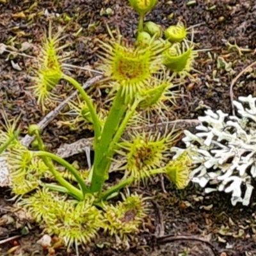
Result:
<svg viewBox="0 0 256 256">
<path fill-rule="evenodd" d="M 129 2 L 140 14 L 136 42 L 128 43 L 120 32 L 114 36 L 110 28 L 109 40 L 99 40 L 97 69 L 104 73 L 101 86 L 110 88 L 109 109 L 99 110 L 92 95 L 74 77 L 65 74 L 63 58 L 58 55 L 65 47 L 60 45 L 60 32 L 52 35 L 50 31 L 45 36 L 32 86 L 44 111 L 49 102 L 58 99 L 54 88 L 61 79 L 78 90 L 77 120 L 92 125 L 94 132 L 92 168 L 81 172 L 48 152 L 38 125 L 28 129 L 28 134 L 35 136 L 38 150 L 28 150 L 20 143 L 19 130 L 15 128 L 18 121 L 4 118 L 5 130 L 0 131 L 0 152 L 8 164 L 12 193 L 19 197 L 19 206 L 32 214 L 46 234 L 58 236 L 68 248 L 96 241 L 99 232 L 106 232 L 115 243 L 129 244 L 148 213 L 148 198 L 130 193 L 129 186 L 143 186 L 149 177 L 160 173 L 179 189 L 189 182 L 189 157 L 183 154 L 173 161 L 170 157 L 179 132 L 133 128 L 147 126 L 154 115 L 168 121 L 165 113 L 179 95 L 173 78 L 179 81 L 190 76 L 197 52 L 188 42 L 183 24 L 171 26 L 165 33 L 154 22 L 143 24 L 144 16 L 157 0 Z M 76 126 L 76 120 L 72 126 Z M 72 179 L 67 179 L 60 167 Z M 121 173 L 122 179 L 109 182 L 110 171 Z"/>
</svg>

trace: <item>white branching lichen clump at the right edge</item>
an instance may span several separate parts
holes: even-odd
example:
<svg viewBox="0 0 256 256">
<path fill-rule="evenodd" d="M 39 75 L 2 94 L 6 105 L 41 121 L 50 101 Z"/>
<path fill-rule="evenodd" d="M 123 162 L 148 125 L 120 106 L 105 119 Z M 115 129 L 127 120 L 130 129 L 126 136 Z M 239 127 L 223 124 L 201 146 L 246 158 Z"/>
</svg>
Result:
<svg viewBox="0 0 256 256">
<path fill-rule="evenodd" d="M 256 98 L 252 95 L 234 100 L 237 116 L 223 111 L 205 111 L 196 134 L 184 131 L 186 149 L 173 147 L 176 159 L 184 151 L 195 164 L 190 173 L 192 182 L 205 188 L 206 193 L 232 193 L 232 205 L 250 203 L 256 177 Z"/>
</svg>

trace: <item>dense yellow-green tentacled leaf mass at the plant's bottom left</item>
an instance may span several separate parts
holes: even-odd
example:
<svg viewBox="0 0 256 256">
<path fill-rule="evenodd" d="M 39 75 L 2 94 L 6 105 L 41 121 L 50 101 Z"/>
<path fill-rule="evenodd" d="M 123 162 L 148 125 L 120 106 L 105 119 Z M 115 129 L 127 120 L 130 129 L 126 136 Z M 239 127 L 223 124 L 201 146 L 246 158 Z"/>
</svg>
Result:
<svg viewBox="0 0 256 256">
<path fill-rule="evenodd" d="M 68 248 L 83 246 L 97 236 L 104 228 L 102 212 L 93 206 L 94 198 L 86 196 L 82 202 L 68 200 L 67 195 L 38 189 L 28 198 L 22 199 L 19 205 L 28 209 L 36 222 L 42 224 L 44 232 L 59 237 Z"/>
</svg>

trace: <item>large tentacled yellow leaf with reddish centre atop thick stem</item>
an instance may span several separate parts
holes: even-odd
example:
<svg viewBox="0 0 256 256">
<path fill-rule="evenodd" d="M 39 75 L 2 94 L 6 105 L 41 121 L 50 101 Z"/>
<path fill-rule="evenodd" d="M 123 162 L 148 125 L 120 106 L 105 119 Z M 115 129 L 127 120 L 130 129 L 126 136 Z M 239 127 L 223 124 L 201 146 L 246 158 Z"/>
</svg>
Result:
<svg viewBox="0 0 256 256">
<path fill-rule="evenodd" d="M 140 95 L 147 81 L 161 68 L 163 45 L 159 47 L 153 41 L 147 47 L 136 47 L 112 38 L 108 43 L 100 42 L 100 45 L 99 58 L 103 63 L 99 69 L 113 81 L 114 91 L 122 90 L 127 102 Z"/>
</svg>

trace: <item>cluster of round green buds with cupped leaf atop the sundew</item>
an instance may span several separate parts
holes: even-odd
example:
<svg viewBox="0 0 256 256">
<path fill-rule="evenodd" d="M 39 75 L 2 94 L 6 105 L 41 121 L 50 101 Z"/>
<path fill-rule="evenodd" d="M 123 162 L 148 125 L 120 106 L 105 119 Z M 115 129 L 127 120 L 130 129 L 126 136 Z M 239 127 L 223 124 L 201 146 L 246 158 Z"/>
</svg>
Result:
<svg viewBox="0 0 256 256">
<path fill-rule="evenodd" d="M 152 21 L 143 24 L 145 14 L 156 6 L 157 0 L 129 0 L 129 3 L 140 15 L 136 46 L 154 45 L 164 48 L 163 65 L 175 75 L 192 77 L 189 71 L 197 52 L 193 51 L 193 43 L 188 45 L 187 29 L 184 23 L 178 22 L 177 25 L 169 26 L 163 33 L 161 26 Z M 163 34 L 165 41 L 161 39 Z"/>
</svg>

